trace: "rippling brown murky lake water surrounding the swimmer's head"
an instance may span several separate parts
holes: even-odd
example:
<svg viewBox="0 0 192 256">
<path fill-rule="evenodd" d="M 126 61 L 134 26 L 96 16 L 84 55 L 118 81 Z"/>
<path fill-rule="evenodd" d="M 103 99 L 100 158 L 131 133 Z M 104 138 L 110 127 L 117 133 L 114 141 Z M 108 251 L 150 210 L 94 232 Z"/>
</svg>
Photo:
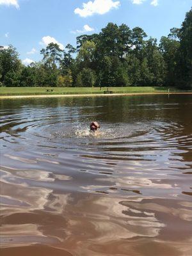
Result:
<svg viewBox="0 0 192 256">
<path fill-rule="evenodd" d="M 0 103 L 2 256 L 192 255 L 191 95 Z"/>
</svg>

